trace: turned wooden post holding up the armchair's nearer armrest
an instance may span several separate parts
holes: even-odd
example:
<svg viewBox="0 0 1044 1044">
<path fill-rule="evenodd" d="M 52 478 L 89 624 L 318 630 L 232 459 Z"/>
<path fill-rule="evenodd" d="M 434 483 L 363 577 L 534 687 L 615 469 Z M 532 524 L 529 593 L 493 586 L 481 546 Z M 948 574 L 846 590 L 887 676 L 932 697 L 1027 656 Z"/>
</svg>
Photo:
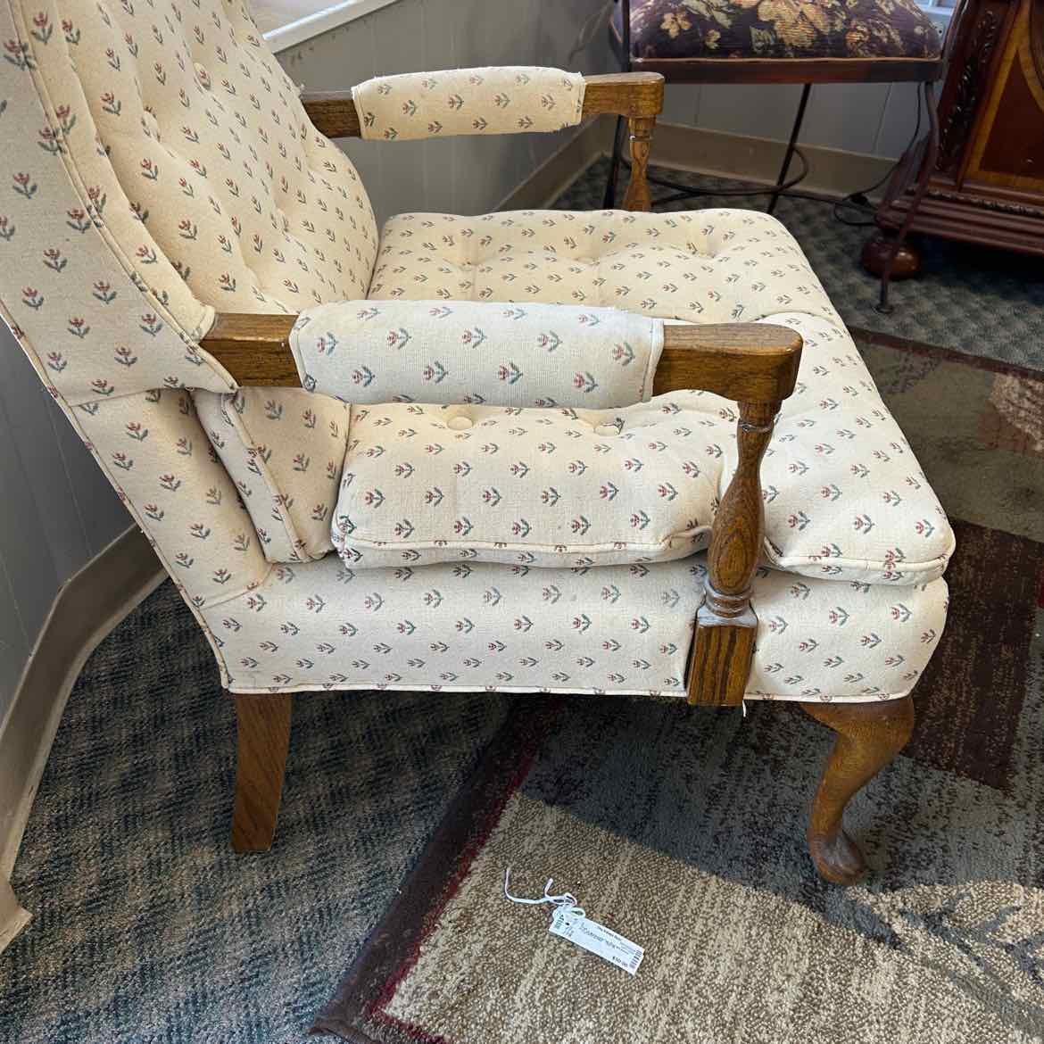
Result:
<svg viewBox="0 0 1044 1044">
<path fill-rule="evenodd" d="M 696 614 L 692 643 L 690 704 L 735 706 L 743 699 L 758 633 L 751 580 L 764 532 L 761 457 L 779 408 L 779 402 L 739 404 L 739 458 L 711 532 L 704 603 Z"/>
</svg>

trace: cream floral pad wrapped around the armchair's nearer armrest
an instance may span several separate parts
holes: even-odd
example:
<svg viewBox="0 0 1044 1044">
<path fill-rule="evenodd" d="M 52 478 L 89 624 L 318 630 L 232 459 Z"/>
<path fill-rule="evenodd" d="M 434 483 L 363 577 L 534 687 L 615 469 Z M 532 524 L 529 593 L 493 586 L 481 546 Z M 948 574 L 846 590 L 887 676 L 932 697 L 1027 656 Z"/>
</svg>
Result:
<svg viewBox="0 0 1044 1044">
<path fill-rule="evenodd" d="M 663 321 L 615 308 L 346 301 L 302 312 L 301 384 L 356 404 L 585 406 L 647 401 Z"/>
</svg>

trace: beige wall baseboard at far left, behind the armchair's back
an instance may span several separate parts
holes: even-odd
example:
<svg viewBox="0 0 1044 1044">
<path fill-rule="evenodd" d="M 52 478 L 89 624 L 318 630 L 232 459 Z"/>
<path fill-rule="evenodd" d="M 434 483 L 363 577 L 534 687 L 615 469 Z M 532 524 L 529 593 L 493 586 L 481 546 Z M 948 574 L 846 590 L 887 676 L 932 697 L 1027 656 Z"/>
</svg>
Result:
<svg viewBox="0 0 1044 1044">
<path fill-rule="evenodd" d="M 0 722 L 0 911 L 3 878 L 15 864 L 73 684 L 98 643 L 166 575 L 145 535 L 130 526 L 70 577 L 54 598 Z M 0 919 L 0 940 L 4 928 Z"/>
</svg>

